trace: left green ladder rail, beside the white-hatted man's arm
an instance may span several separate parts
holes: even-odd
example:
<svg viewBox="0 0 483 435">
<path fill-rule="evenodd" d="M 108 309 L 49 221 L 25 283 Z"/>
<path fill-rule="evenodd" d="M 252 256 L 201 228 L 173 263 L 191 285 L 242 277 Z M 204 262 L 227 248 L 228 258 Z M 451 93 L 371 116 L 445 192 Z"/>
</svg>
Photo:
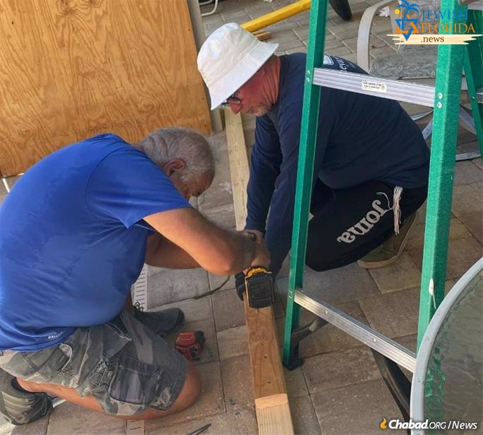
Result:
<svg viewBox="0 0 483 435">
<path fill-rule="evenodd" d="M 314 172 L 315 143 L 319 119 L 320 87 L 312 85 L 314 68 L 324 62 L 324 44 L 327 21 L 328 0 L 313 1 L 310 10 L 309 46 L 305 68 L 305 87 L 300 127 L 300 149 L 293 213 L 291 266 L 288 279 L 287 312 L 285 338 L 283 341 L 283 363 L 291 365 L 291 333 L 298 326 L 300 307 L 294 303 L 295 288 L 302 288 L 305 268 L 305 250 L 312 176 Z"/>
</svg>

